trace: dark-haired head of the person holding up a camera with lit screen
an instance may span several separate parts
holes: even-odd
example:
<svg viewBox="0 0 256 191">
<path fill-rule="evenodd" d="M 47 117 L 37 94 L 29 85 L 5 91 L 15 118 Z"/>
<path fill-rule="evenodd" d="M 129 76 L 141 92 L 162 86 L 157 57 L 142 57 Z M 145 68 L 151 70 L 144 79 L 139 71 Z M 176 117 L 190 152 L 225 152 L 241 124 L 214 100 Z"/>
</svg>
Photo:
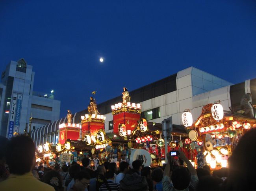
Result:
<svg viewBox="0 0 256 191">
<path fill-rule="evenodd" d="M 189 186 L 190 174 L 185 167 L 177 168 L 171 175 L 173 187 L 177 190 L 184 190 Z"/>
</svg>

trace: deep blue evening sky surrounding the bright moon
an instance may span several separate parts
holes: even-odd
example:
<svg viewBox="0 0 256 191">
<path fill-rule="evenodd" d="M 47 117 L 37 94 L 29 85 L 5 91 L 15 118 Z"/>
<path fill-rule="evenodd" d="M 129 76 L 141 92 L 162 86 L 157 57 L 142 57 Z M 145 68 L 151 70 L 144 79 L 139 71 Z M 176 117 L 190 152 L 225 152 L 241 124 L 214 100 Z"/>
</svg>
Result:
<svg viewBox="0 0 256 191">
<path fill-rule="evenodd" d="M 61 115 L 190 66 L 256 78 L 255 0 L 0 0 L 0 71 L 25 58 Z M 105 61 L 100 63 L 100 57 Z"/>
</svg>

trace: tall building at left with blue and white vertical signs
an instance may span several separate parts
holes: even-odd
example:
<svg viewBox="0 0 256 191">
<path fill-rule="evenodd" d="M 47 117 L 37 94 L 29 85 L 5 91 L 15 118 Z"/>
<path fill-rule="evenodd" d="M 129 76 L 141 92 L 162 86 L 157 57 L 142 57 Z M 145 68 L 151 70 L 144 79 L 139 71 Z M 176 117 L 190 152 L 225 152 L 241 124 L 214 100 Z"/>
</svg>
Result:
<svg viewBox="0 0 256 191">
<path fill-rule="evenodd" d="M 32 129 L 59 118 L 60 101 L 54 96 L 33 92 L 32 65 L 24 58 L 11 61 L 2 72 L 0 83 L 0 135 L 11 137 L 24 133 L 32 116 Z M 28 130 L 28 129 L 27 129 Z"/>
</svg>

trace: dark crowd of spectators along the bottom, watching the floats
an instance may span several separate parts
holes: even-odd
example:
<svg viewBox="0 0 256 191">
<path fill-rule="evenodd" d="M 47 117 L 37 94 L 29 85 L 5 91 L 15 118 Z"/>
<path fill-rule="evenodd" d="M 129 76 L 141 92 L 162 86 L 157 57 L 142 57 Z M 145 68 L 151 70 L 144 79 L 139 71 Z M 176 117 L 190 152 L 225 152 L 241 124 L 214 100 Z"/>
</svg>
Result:
<svg viewBox="0 0 256 191">
<path fill-rule="evenodd" d="M 0 137 L 1 191 L 240 191 L 255 190 L 256 129 L 245 133 L 229 157 L 228 168 L 211 171 L 205 165 L 195 169 L 182 151 L 168 156 L 162 167 L 143 167 L 125 158 L 119 167 L 105 162 L 95 170 L 90 160 L 82 166 L 73 162 L 55 169 L 43 163 L 35 167 L 35 145 L 29 136 L 7 140 Z M 178 158 L 178 159 L 177 159 Z"/>
</svg>

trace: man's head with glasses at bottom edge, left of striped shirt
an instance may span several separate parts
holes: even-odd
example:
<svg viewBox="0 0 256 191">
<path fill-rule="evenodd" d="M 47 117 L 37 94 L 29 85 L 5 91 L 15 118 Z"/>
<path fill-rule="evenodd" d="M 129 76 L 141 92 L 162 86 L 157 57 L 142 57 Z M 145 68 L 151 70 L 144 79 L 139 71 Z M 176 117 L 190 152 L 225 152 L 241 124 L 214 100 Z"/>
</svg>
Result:
<svg viewBox="0 0 256 191">
<path fill-rule="evenodd" d="M 84 191 L 90 183 L 90 178 L 91 177 L 87 172 L 80 171 L 76 173 L 74 177 L 74 180 L 75 180 L 74 187 L 76 191 Z"/>
</svg>

